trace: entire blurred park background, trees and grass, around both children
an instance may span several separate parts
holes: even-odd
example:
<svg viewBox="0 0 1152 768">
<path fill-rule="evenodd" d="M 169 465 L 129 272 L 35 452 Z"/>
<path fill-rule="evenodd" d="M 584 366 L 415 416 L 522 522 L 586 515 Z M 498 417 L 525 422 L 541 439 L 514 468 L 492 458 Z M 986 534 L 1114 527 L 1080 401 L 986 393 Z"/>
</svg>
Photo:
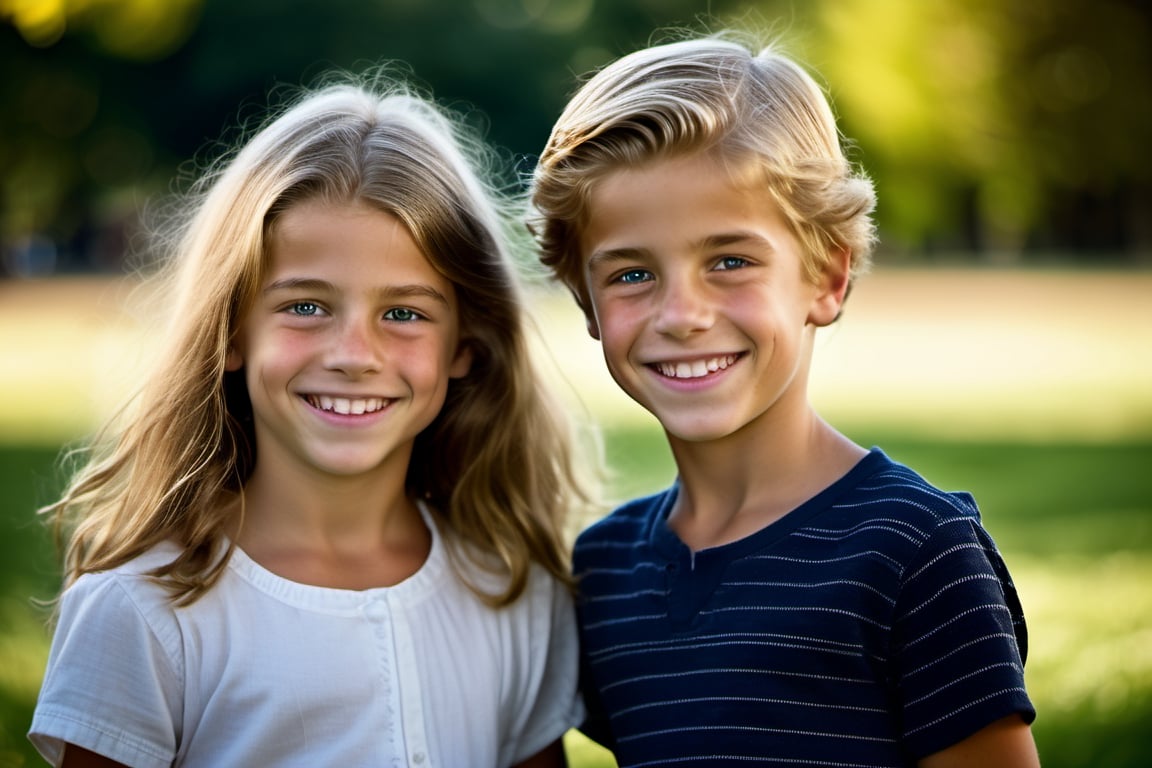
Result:
<svg viewBox="0 0 1152 768">
<path fill-rule="evenodd" d="M 1047 768 L 1152 754 L 1152 23 L 1140 0 L 0 0 L 0 766 L 58 586 L 38 505 L 145 360 L 147 212 L 276 89 L 407 62 L 531 168 L 576 75 L 669 25 L 779 35 L 828 83 L 882 243 L 821 330 L 812 397 L 972 491 L 1029 617 Z M 270 97 L 270 93 L 273 93 Z M 672 478 L 567 296 L 541 353 L 612 493 Z M 611 765 L 569 739 L 574 766 Z"/>
</svg>

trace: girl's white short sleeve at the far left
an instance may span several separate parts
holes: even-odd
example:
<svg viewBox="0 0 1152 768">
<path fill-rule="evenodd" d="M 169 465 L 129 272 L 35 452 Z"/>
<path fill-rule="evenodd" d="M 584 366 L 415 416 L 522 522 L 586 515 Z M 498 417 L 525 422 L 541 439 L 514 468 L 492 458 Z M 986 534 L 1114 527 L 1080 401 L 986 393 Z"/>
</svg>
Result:
<svg viewBox="0 0 1152 768">
<path fill-rule="evenodd" d="M 75 744 L 134 768 L 170 766 L 182 720 L 177 647 L 159 587 L 82 577 L 61 600 L 29 738 L 53 763 Z"/>
</svg>

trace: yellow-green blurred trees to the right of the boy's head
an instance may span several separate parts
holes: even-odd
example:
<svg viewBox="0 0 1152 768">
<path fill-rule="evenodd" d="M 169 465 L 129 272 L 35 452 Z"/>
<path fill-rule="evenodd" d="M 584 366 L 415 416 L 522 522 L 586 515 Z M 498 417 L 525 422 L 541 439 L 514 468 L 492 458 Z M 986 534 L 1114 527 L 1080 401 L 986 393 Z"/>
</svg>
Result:
<svg viewBox="0 0 1152 768">
<path fill-rule="evenodd" d="M 1152 250 L 1143 0 L 819 0 L 812 63 L 890 239 L 1014 258 Z"/>
</svg>

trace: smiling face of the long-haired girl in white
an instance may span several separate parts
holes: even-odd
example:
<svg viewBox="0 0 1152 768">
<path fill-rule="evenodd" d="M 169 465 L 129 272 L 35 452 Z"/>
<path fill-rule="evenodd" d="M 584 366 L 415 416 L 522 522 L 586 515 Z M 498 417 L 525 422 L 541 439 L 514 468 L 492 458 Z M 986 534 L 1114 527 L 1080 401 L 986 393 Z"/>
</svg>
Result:
<svg viewBox="0 0 1152 768">
<path fill-rule="evenodd" d="M 471 363 L 452 283 L 399 219 L 363 204 L 298 204 L 267 249 L 228 358 L 245 372 L 256 471 L 403 477 Z"/>
</svg>

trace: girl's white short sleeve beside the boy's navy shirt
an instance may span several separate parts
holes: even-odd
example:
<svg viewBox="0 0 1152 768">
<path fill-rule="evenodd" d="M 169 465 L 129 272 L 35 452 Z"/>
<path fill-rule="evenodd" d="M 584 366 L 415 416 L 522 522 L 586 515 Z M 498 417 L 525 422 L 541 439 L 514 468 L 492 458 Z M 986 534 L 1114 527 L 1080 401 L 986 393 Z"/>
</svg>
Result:
<svg viewBox="0 0 1152 768">
<path fill-rule="evenodd" d="M 576 613 L 569 591 L 543 571 L 535 571 L 538 579 L 530 598 L 535 603 L 532 669 L 533 685 L 530 695 L 522 700 L 522 725 L 511 750 L 515 765 L 579 724 L 584 705 L 577 692 L 578 642 Z"/>
</svg>

